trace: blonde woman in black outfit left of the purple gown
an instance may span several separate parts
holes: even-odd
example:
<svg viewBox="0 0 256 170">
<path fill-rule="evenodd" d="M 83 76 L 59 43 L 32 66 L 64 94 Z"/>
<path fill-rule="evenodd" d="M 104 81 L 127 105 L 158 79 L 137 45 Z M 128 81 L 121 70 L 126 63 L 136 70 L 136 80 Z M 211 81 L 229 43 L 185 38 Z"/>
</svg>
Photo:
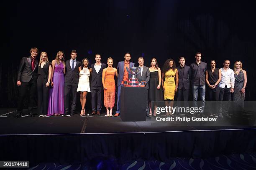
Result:
<svg viewBox="0 0 256 170">
<path fill-rule="evenodd" d="M 37 97 L 38 97 L 38 114 L 45 117 L 48 110 L 49 86 L 51 81 L 51 62 L 48 60 L 46 52 L 41 52 L 38 65 L 37 78 Z"/>
</svg>

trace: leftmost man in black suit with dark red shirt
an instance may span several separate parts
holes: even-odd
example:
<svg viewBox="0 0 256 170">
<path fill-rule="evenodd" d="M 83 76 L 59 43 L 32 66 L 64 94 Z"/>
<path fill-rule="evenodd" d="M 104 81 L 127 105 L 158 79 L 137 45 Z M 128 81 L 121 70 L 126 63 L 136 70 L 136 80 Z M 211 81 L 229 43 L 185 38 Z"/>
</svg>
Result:
<svg viewBox="0 0 256 170">
<path fill-rule="evenodd" d="M 20 87 L 20 97 L 18 100 L 17 114 L 15 118 L 21 116 L 23 100 L 27 94 L 29 94 L 28 110 L 31 117 L 33 115 L 34 106 L 34 94 L 36 93 L 36 80 L 38 62 L 36 56 L 38 55 L 38 49 L 36 47 L 31 48 L 31 56 L 23 57 L 20 61 L 20 67 L 18 70 L 17 85 Z"/>
</svg>

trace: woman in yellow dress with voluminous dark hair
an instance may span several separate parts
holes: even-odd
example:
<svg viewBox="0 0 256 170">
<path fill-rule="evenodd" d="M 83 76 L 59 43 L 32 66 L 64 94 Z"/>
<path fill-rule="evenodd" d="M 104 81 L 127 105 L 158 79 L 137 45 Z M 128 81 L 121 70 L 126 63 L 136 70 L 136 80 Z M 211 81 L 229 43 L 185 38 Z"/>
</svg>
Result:
<svg viewBox="0 0 256 170">
<path fill-rule="evenodd" d="M 164 100 L 167 107 L 173 107 L 174 94 L 178 90 L 179 75 L 175 61 L 168 59 L 164 62 L 162 72 L 162 85 L 164 87 Z M 175 78 L 175 80 L 174 80 Z M 172 115 L 172 110 L 166 112 L 166 115 Z"/>
</svg>

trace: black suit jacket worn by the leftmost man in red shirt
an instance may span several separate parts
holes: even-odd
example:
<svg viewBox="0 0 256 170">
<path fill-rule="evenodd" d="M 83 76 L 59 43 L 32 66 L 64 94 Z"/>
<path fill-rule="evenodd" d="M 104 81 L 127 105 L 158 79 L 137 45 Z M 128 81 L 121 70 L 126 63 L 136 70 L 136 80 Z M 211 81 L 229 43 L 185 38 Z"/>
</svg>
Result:
<svg viewBox="0 0 256 170">
<path fill-rule="evenodd" d="M 38 61 L 35 59 L 35 67 L 34 70 L 32 70 L 30 57 L 31 56 L 22 57 L 20 60 L 17 80 L 20 80 L 21 82 L 29 82 L 32 77 L 34 80 L 37 79 Z"/>
</svg>

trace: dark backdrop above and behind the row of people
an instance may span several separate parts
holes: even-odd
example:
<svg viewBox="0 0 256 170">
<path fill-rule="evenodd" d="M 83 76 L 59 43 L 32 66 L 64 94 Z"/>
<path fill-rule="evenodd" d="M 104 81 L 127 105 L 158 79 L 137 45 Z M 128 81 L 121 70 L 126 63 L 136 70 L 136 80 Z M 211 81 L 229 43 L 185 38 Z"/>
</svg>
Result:
<svg viewBox="0 0 256 170">
<path fill-rule="evenodd" d="M 78 60 L 95 53 L 102 62 L 113 57 L 114 66 L 131 52 L 131 61 L 143 56 L 145 65 L 156 57 L 161 67 L 168 58 L 180 56 L 189 65 L 195 52 L 202 61 L 224 59 L 230 67 L 236 60 L 247 71 L 246 100 L 255 100 L 256 23 L 250 1 L 191 0 L 97 0 L 97 1 L 10 1 L 1 5 L 7 40 L 0 62 L 0 107 L 16 107 L 17 70 L 21 57 L 31 47 L 46 51 L 49 60 L 63 50 L 78 51 Z M 8 57 L 7 60 L 3 58 Z M 39 55 L 38 55 L 39 58 Z M 177 63 L 178 64 L 178 63 Z"/>
</svg>

